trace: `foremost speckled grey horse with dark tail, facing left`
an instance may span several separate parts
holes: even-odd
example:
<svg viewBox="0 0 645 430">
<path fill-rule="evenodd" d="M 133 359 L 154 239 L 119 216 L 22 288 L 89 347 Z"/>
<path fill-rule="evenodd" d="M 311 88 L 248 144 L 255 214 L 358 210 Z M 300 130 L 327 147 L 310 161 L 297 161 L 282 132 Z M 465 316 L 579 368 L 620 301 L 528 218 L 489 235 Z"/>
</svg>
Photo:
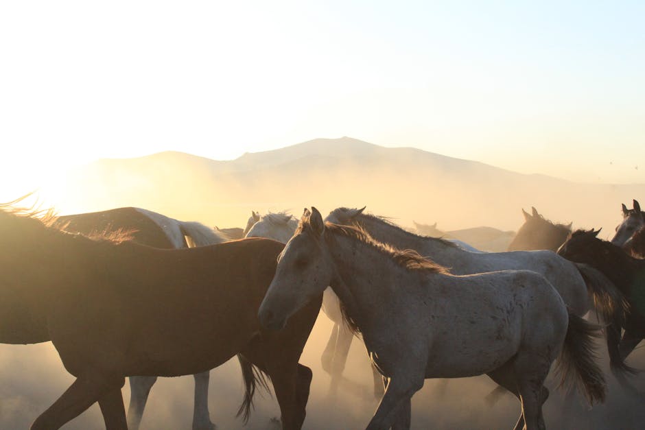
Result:
<svg viewBox="0 0 645 430">
<path fill-rule="evenodd" d="M 567 310 L 540 274 L 453 276 L 417 252 L 305 209 L 260 305 L 261 324 L 281 329 L 327 285 L 387 379 L 368 430 L 409 429 L 410 398 L 425 379 L 478 374 L 517 396 L 522 415 L 515 429 L 523 421 L 525 429 L 544 429 L 543 382 L 556 357 L 567 370 L 563 383 L 576 381 L 590 403 L 605 398 L 593 353 L 599 328 Z"/>
</svg>

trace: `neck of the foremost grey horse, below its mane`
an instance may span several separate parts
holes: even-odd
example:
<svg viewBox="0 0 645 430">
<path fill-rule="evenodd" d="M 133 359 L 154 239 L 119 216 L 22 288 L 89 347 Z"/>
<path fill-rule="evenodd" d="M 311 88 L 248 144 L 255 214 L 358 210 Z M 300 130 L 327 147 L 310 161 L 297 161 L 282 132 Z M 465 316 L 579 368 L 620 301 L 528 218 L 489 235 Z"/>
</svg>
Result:
<svg viewBox="0 0 645 430">
<path fill-rule="evenodd" d="M 393 285 L 405 271 L 386 254 L 358 239 L 333 235 L 326 239 L 336 273 L 331 288 L 364 331 L 392 303 Z M 329 246 L 329 241 L 333 245 Z"/>
</svg>

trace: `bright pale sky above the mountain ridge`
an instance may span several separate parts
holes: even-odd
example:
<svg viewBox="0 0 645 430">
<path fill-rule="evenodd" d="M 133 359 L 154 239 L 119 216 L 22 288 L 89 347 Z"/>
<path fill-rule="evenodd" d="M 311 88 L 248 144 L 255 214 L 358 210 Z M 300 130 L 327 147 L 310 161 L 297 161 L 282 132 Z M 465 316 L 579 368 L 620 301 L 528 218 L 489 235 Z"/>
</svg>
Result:
<svg viewBox="0 0 645 430">
<path fill-rule="evenodd" d="M 643 16 L 642 1 L 3 2 L 0 178 L 352 136 L 645 182 Z"/>
</svg>

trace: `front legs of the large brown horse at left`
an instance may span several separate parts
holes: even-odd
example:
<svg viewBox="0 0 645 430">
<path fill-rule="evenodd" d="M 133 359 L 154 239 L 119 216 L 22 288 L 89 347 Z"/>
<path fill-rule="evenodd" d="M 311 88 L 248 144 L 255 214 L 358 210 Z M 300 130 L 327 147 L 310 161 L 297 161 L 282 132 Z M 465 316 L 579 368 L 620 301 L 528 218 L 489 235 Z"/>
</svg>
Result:
<svg viewBox="0 0 645 430">
<path fill-rule="evenodd" d="M 30 429 L 60 429 L 60 427 L 62 427 L 66 422 L 76 418 L 85 411 L 85 409 L 108 394 L 109 398 L 104 402 L 106 404 L 106 411 L 114 413 L 117 409 L 114 405 L 115 394 L 113 391 L 120 390 L 124 385 L 124 382 L 125 380 L 122 377 L 104 378 L 99 375 L 78 377 L 53 405 L 36 418 Z M 106 417 L 105 420 L 106 423 L 110 422 L 110 425 L 115 426 L 119 422 L 119 420 L 113 416 Z M 127 427 L 122 426 L 110 428 L 110 430 L 113 429 L 127 430 Z"/>
</svg>

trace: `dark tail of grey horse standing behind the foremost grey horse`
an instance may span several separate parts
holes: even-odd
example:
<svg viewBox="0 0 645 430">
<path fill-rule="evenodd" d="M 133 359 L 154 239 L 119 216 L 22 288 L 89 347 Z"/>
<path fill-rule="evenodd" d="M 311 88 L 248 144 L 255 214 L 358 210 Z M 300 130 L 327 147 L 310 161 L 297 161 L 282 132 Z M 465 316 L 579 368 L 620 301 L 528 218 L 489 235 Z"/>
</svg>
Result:
<svg viewBox="0 0 645 430">
<path fill-rule="evenodd" d="M 618 350 L 620 331 L 625 325 L 627 315 L 629 315 L 629 302 L 611 280 L 599 270 L 581 263 L 576 263 L 576 267 L 585 279 L 589 294 L 594 298 L 596 313 L 607 324 L 605 333 L 612 372 L 635 374 L 637 370 L 627 366 L 624 357 L 620 355 Z"/>
</svg>

